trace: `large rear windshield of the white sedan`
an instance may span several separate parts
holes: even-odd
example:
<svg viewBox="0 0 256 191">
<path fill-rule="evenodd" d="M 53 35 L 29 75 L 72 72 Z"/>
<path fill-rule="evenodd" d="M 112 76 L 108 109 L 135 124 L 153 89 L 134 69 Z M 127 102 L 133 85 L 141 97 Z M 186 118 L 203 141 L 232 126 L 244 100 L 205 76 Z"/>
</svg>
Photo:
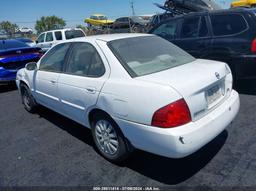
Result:
<svg viewBox="0 0 256 191">
<path fill-rule="evenodd" d="M 157 36 L 114 40 L 108 46 L 132 77 L 160 72 L 195 60 Z"/>
</svg>

